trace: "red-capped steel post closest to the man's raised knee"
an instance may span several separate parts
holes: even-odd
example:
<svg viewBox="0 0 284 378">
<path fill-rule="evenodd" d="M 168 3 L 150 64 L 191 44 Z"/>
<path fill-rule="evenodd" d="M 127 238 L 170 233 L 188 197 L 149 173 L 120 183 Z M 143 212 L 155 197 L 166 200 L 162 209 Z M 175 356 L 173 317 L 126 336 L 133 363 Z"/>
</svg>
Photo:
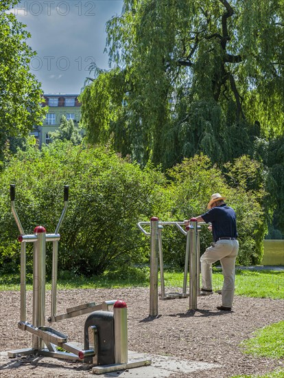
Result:
<svg viewBox="0 0 284 378">
<path fill-rule="evenodd" d="M 191 249 L 189 256 L 189 309 L 197 309 L 197 281 L 198 281 L 198 269 L 197 269 L 197 249 L 198 249 L 198 222 L 196 218 L 190 219 L 190 225 L 193 228 L 191 232 Z"/>
</svg>

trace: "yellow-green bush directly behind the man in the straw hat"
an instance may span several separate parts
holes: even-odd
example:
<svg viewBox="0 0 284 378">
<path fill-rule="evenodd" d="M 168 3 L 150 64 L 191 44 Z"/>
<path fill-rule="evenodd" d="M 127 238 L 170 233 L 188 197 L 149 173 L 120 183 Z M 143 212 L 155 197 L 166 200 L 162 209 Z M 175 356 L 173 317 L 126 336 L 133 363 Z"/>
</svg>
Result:
<svg viewBox="0 0 284 378">
<path fill-rule="evenodd" d="M 248 166 L 250 169 L 248 169 Z M 234 164 L 226 166 L 226 179 L 217 166 L 211 164 L 208 157 L 196 155 L 192 159 L 185 159 L 168 171 L 171 177 L 171 213 L 174 219 L 180 221 L 192 216 L 204 214 L 206 205 L 212 193 L 220 192 L 227 198 L 237 213 L 237 228 L 239 232 L 239 256 L 237 263 L 249 265 L 261 262 L 263 254 L 263 238 L 266 231 L 265 216 L 261 203 L 265 192 L 259 186 L 252 190 L 252 182 L 259 177 L 259 164 L 248 157 L 236 159 Z M 228 185 L 230 184 L 230 185 Z M 211 232 L 205 225 L 200 232 L 200 253 L 212 241 Z M 164 233 L 164 244 L 167 243 L 168 253 L 165 262 L 172 264 L 176 261 L 182 264 L 185 251 L 185 237 L 176 238 L 172 231 Z"/>
</svg>

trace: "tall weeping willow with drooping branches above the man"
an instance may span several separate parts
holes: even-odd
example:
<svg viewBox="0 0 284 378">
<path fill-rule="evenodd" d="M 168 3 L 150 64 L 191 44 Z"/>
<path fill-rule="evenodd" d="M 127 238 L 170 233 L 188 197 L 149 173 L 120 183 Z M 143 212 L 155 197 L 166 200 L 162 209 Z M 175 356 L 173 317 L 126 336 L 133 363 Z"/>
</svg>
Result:
<svg viewBox="0 0 284 378">
<path fill-rule="evenodd" d="M 165 167 L 250 153 L 284 125 L 283 0 L 124 0 L 110 70 L 82 96 L 90 142 Z"/>
</svg>

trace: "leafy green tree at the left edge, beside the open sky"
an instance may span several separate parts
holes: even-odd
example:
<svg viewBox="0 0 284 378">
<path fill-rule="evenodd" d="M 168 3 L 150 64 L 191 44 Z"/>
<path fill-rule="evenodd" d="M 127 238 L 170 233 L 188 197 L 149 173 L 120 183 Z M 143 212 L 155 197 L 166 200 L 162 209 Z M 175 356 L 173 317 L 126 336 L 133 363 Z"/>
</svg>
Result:
<svg viewBox="0 0 284 378">
<path fill-rule="evenodd" d="M 8 137 L 27 135 L 35 124 L 42 124 L 40 83 L 29 71 L 34 56 L 27 45 L 30 34 L 25 25 L 9 12 L 18 0 L 0 3 L 0 146 Z"/>
</svg>

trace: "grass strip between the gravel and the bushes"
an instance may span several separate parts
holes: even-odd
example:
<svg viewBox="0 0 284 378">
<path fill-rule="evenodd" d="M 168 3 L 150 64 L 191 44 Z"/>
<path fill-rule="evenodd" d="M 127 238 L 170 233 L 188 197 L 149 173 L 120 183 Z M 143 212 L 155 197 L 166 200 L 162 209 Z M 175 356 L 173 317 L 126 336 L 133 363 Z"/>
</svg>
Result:
<svg viewBox="0 0 284 378">
<path fill-rule="evenodd" d="M 132 269 L 122 272 L 106 272 L 103 276 L 86 278 L 62 272 L 58 278 L 58 290 L 95 289 L 117 287 L 148 287 L 149 269 Z M 189 280 L 187 280 L 189 282 Z M 222 289 L 221 269 L 213 268 L 213 289 Z M 183 285 L 183 274 L 165 271 L 165 287 Z M 0 275 L 0 291 L 19 290 L 19 274 Z M 47 290 L 51 289 L 51 280 L 47 280 Z M 27 290 L 32 290 L 32 275 L 27 275 Z M 248 271 L 238 270 L 235 282 L 235 294 L 255 298 L 284 299 L 284 271 Z"/>
</svg>

